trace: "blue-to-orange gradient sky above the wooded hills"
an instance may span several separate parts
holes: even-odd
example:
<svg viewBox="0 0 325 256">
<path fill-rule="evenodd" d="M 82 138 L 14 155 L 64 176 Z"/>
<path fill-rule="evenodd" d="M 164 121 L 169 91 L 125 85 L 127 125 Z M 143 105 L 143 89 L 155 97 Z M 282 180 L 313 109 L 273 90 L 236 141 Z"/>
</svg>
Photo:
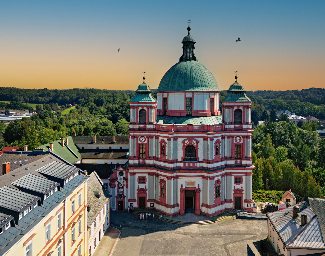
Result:
<svg viewBox="0 0 325 256">
<path fill-rule="evenodd" d="M 235 70 L 246 90 L 325 88 L 324 11 L 325 1 L 1 1 L 0 86 L 136 90 L 146 71 L 158 88 L 190 19 L 221 90 Z"/>
</svg>

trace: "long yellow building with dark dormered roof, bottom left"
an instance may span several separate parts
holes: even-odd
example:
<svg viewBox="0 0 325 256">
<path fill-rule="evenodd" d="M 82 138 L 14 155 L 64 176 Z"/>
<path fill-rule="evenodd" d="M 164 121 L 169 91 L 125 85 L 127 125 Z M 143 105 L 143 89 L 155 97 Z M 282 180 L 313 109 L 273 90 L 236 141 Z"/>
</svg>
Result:
<svg viewBox="0 0 325 256">
<path fill-rule="evenodd" d="M 0 256 L 86 255 L 88 176 L 43 149 L 0 160 Z"/>
</svg>

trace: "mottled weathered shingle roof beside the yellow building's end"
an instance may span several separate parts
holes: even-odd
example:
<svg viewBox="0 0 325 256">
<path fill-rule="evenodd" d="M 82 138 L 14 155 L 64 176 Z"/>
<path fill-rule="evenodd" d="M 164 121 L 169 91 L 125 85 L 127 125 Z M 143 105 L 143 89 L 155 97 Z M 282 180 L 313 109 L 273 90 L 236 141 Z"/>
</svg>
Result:
<svg viewBox="0 0 325 256">
<path fill-rule="evenodd" d="M 100 198 L 95 197 L 94 191 L 99 192 Z M 103 209 L 110 197 L 110 193 L 103 186 L 97 173 L 91 173 L 87 180 L 87 203 L 91 204 L 91 211 L 87 212 L 87 227 L 93 223 L 99 211 Z M 105 216 L 101 216 L 101 218 L 105 218 Z"/>
</svg>

